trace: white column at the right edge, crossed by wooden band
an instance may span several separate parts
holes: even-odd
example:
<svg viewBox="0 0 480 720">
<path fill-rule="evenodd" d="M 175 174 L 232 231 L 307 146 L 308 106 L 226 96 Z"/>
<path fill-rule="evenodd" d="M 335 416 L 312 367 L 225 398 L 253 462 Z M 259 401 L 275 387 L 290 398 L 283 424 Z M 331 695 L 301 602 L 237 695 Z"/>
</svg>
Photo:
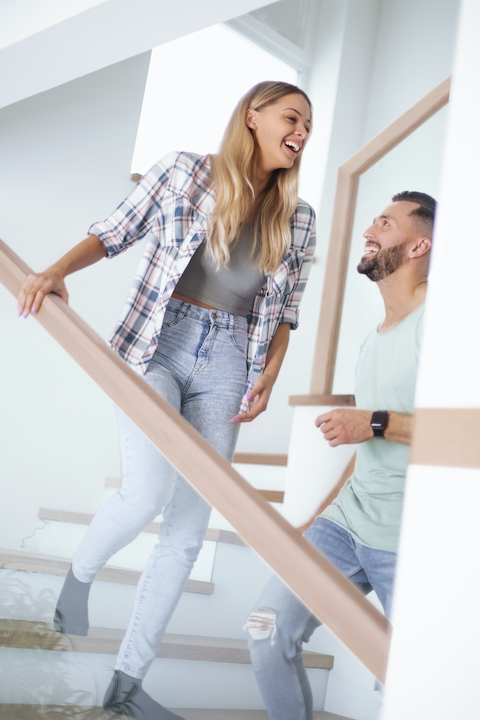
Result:
<svg viewBox="0 0 480 720">
<path fill-rule="evenodd" d="M 480 407 L 479 69 L 480 0 L 463 0 L 419 408 Z M 410 466 L 382 720 L 480 717 L 479 510 L 480 470 Z"/>
</svg>

